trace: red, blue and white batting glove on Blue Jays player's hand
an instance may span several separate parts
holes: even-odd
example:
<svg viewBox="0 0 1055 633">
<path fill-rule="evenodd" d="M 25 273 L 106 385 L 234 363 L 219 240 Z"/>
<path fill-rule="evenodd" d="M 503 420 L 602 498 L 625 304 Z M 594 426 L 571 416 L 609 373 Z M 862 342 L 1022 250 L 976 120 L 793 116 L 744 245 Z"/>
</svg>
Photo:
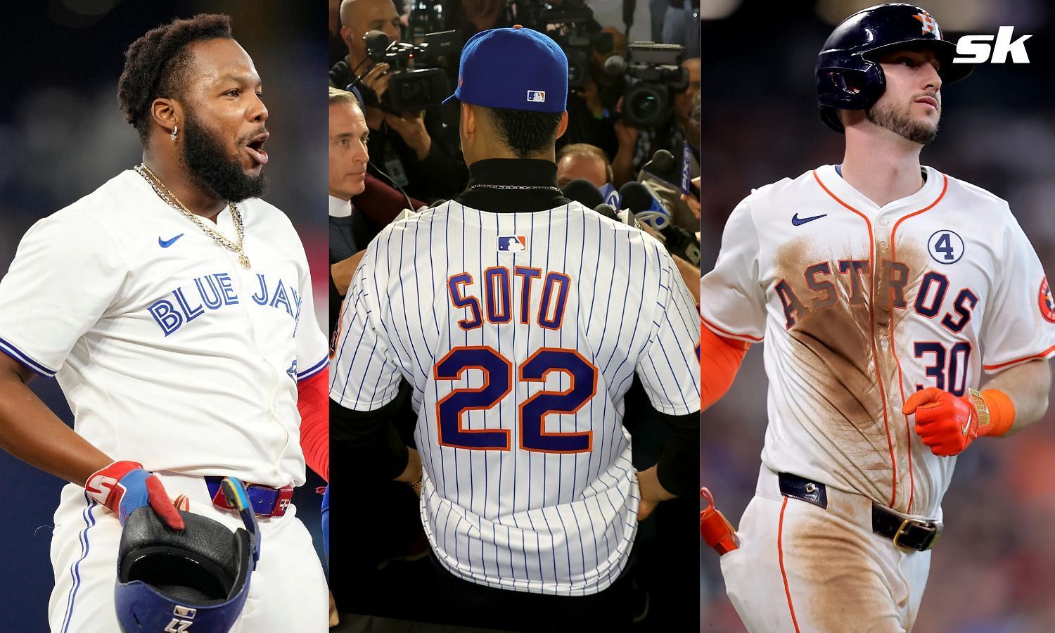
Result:
<svg viewBox="0 0 1055 633">
<path fill-rule="evenodd" d="M 88 478 L 84 490 L 90 497 L 114 511 L 121 525 L 134 511 L 150 505 L 169 528 L 185 528 L 184 519 L 165 492 L 161 480 L 145 471 L 138 462 L 116 461 L 96 471 Z"/>
</svg>

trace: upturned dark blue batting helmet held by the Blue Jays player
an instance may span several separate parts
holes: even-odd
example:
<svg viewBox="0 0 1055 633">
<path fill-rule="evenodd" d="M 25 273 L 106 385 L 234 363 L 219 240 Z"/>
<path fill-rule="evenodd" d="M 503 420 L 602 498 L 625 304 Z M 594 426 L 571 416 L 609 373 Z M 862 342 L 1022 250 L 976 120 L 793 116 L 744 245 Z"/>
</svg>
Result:
<svg viewBox="0 0 1055 633">
<path fill-rule="evenodd" d="M 260 532 L 246 490 L 222 483 L 246 529 L 180 511 L 186 530 L 165 525 L 150 506 L 129 516 L 117 552 L 114 606 L 124 633 L 227 633 L 246 603 L 260 557 Z"/>
</svg>

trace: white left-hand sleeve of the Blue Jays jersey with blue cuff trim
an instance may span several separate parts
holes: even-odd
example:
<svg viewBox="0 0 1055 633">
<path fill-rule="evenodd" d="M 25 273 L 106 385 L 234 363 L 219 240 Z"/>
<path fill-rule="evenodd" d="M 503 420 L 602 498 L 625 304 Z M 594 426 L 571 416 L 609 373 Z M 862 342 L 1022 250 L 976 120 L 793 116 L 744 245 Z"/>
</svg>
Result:
<svg viewBox="0 0 1055 633">
<path fill-rule="evenodd" d="M 68 209 L 35 224 L 0 281 L 0 351 L 52 377 L 128 274 L 110 233 Z"/>
</svg>

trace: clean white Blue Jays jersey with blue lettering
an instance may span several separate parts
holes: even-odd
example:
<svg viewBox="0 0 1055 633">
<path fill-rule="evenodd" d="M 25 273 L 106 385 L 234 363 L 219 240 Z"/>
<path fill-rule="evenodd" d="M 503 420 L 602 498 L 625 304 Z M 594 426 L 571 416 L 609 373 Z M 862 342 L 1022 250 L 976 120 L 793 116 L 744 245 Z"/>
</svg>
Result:
<svg viewBox="0 0 1055 633">
<path fill-rule="evenodd" d="M 289 219 L 238 208 L 250 270 L 131 170 L 41 219 L 0 282 L 0 348 L 55 376 L 115 460 L 299 485 L 296 381 L 326 340 Z M 229 210 L 216 220 L 233 238 Z"/>
</svg>

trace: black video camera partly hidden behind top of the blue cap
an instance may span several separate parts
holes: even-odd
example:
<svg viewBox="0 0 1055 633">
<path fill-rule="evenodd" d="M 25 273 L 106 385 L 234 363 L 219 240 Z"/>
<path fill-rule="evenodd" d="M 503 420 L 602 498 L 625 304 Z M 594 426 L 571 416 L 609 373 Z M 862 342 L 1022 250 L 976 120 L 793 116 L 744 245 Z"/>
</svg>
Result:
<svg viewBox="0 0 1055 633">
<path fill-rule="evenodd" d="M 568 57 L 568 87 L 582 88 L 590 79 L 590 55 L 611 53 L 611 33 L 601 33 L 593 9 L 586 0 L 564 0 L 554 5 L 544 0 L 511 0 L 516 21 L 544 33 L 557 42 Z"/>
</svg>

